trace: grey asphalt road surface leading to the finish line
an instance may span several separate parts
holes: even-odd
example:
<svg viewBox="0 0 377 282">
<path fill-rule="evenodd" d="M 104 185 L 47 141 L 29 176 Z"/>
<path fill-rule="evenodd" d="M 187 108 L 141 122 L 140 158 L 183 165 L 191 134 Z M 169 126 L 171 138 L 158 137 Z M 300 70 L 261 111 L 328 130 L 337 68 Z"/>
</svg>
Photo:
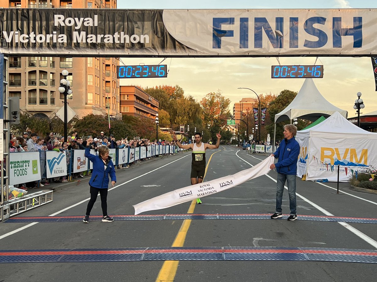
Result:
<svg viewBox="0 0 377 282">
<path fill-rule="evenodd" d="M 216 152 L 216 153 L 215 153 Z M 221 146 L 213 154 L 205 180 L 250 168 L 266 158 L 248 155 L 236 147 Z M 117 170 L 116 188 L 107 198 L 109 215 L 134 214 L 132 205 L 190 185 L 190 153 L 155 158 Z M 193 213 L 273 213 L 276 172 L 261 176 L 213 196 L 202 198 Z M 54 201 L 20 216 L 84 215 L 89 199 L 88 178 L 60 185 Z M 126 183 L 125 183 L 126 182 Z M 325 185 L 324 185 L 325 184 Z M 315 183 L 297 178 L 297 214 L 376 217 L 377 195 L 351 191 L 340 183 Z M 30 191 L 29 193 L 32 193 Z M 352 195 L 356 196 L 353 197 Z M 368 202 L 369 200 L 371 202 Z M 81 202 L 81 203 L 80 203 Z M 185 214 L 191 202 L 144 214 Z M 288 191 L 283 213 L 289 214 Z M 100 199 L 92 215 L 101 215 Z M 185 236 L 178 235 L 182 224 Z M 26 227 L 26 228 L 25 228 Z M 10 233 L 13 232 L 13 233 Z M 123 247 L 171 247 L 181 238 L 184 247 L 317 247 L 377 249 L 375 224 L 287 220 L 143 220 L 0 223 L 0 249 L 103 249 Z M 164 265 L 174 281 L 375 281 L 375 264 L 302 261 L 179 261 L 53 262 L 0 264 L 2 281 L 159 281 Z M 176 270 L 175 270 L 176 269 Z"/>
</svg>

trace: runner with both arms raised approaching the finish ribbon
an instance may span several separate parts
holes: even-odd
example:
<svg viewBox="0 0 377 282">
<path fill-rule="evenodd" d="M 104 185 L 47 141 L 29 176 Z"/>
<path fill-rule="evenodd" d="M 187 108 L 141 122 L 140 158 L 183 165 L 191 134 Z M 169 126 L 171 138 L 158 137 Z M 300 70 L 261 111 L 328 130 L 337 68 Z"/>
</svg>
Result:
<svg viewBox="0 0 377 282">
<path fill-rule="evenodd" d="M 215 145 L 208 143 L 202 143 L 202 134 L 200 132 L 195 133 L 195 143 L 182 145 L 179 143 L 177 136 L 173 133 L 173 140 L 176 142 L 177 146 L 181 149 L 191 149 L 192 150 L 192 162 L 191 162 L 191 185 L 197 183 L 202 183 L 205 173 L 205 150 L 207 149 L 218 149 L 220 146 L 220 132 L 216 134 L 217 142 Z M 201 204 L 202 201 L 198 198 L 196 199 L 197 204 Z"/>
</svg>

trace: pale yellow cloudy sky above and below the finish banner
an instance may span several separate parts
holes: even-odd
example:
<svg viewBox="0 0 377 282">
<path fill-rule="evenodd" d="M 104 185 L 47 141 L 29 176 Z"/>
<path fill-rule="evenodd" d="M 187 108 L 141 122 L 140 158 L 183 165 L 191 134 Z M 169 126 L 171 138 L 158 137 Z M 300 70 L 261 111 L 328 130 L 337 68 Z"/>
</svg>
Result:
<svg viewBox="0 0 377 282">
<path fill-rule="evenodd" d="M 255 4 L 254 4 L 255 3 Z M 181 1 L 118 1 L 118 9 L 333 9 L 333 8 L 377 8 L 375 1 L 197 1 L 181 4 Z M 310 3 L 310 5 L 308 5 Z M 163 58 L 121 58 L 125 65 L 159 64 Z M 280 57 L 281 65 L 313 65 L 316 57 Z M 120 79 L 120 85 L 179 85 L 185 94 L 200 101 L 208 92 L 222 91 L 231 100 L 230 110 L 235 102 L 244 97 L 255 97 L 247 89 L 258 94 L 279 94 L 284 89 L 299 91 L 304 79 L 271 79 L 271 65 L 279 65 L 276 58 L 167 58 L 167 78 Z M 318 90 L 333 105 L 348 111 L 348 117 L 355 117 L 353 109 L 356 93 L 362 92 L 365 103 L 363 114 L 377 111 L 377 92 L 371 58 L 319 57 L 316 64 L 323 65 L 324 76 L 314 79 Z"/>
</svg>

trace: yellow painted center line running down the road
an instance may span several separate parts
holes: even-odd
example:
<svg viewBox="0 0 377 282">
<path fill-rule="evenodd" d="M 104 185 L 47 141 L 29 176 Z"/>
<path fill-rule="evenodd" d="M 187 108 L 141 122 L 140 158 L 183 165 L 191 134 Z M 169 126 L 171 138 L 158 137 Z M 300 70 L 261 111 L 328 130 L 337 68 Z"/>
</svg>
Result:
<svg viewBox="0 0 377 282">
<path fill-rule="evenodd" d="M 221 150 L 213 153 L 210 156 L 210 159 L 208 160 L 207 166 L 205 167 L 204 172 L 204 178 L 207 174 L 208 165 L 210 164 L 210 161 L 212 159 L 212 156 L 216 153 L 221 152 Z M 203 178 L 203 180 L 204 180 Z M 187 211 L 187 214 L 193 214 L 194 209 L 196 205 L 196 200 L 193 200 L 191 202 L 191 205 L 189 207 L 189 210 Z M 191 219 L 185 219 L 181 225 L 181 228 L 179 228 L 178 234 L 175 237 L 175 240 L 172 244 L 172 247 L 183 247 L 183 244 L 185 243 L 187 232 L 189 231 L 189 227 L 191 224 Z M 164 264 L 162 264 L 162 267 L 160 269 L 160 272 L 158 273 L 156 282 L 173 282 L 175 273 L 177 272 L 179 261 L 164 261 Z"/>
</svg>

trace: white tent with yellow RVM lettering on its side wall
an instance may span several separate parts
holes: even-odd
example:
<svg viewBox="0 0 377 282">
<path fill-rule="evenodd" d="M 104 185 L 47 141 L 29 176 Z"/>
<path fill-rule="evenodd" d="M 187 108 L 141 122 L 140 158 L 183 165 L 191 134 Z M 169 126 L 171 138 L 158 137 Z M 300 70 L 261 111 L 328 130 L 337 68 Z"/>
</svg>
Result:
<svg viewBox="0 0 377 282">
<path fill-rule="evenodd" d="M 306 180 L 348 182 L 354 171 L 377 167 L 377 133 L 352 124 L 339 112 L 306 130 L 297 131 L 300 144 L 297 176 Z"/>
</svg>

